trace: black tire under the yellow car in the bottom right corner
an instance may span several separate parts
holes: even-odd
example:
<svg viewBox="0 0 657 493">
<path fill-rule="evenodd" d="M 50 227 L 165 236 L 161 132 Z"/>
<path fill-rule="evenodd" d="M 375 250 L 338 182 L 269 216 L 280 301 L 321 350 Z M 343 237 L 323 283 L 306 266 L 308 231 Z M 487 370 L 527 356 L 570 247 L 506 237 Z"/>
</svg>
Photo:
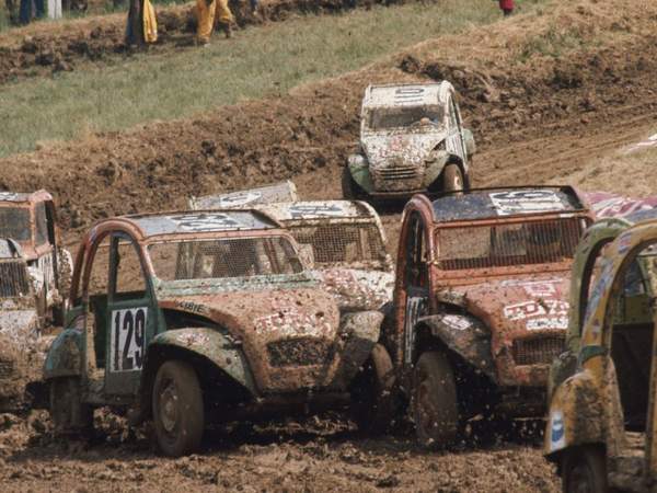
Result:
<svg viewBox="0 0 657 493">
<path fill-rule="evenodd" d="M 562 488 L 564 493 L 607 493 L 607 458 L 602 447 L 587 445 L 566 450 Z"/>
</svg>

